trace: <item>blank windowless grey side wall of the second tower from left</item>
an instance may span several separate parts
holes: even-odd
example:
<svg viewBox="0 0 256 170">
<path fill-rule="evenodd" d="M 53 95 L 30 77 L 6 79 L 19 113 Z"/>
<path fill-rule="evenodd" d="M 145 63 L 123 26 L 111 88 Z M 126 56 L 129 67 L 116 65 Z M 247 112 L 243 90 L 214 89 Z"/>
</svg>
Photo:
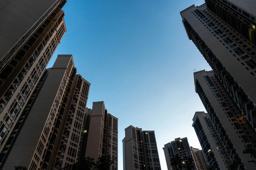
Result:
<svg viewBox="0 0 256 170">
<path fill-rule="evenodd" d="M 61 58 L 63 57 L 59 59 Z M 70 60 L 71 56 L 65 57 L 65 59 L 67 58 Z M 59 59 L 58 61 L 61 62 Z M 62 61 L 62 66 L 67 67 L 68 63 L 67 60 Z M 54 104 L 65 71 L 66 69 L 57 68 L 50 71 L 3 169 L 12 170 L 13 166 L 16 165 L 29 166 Z"/>
</svg>

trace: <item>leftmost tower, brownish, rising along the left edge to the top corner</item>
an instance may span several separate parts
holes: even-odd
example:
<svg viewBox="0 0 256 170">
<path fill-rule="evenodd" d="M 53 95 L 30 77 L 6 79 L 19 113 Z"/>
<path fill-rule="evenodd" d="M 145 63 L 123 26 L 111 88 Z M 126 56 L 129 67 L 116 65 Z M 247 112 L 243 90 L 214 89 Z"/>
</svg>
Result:
<svg viewBox="0 0 256 170">
<path fill-rule="evenodd" d="M 9 152 L 20 113 L 66 32 L 61 10 L 65 2 L 0 2 L 0 163 Z"/>
</svg>

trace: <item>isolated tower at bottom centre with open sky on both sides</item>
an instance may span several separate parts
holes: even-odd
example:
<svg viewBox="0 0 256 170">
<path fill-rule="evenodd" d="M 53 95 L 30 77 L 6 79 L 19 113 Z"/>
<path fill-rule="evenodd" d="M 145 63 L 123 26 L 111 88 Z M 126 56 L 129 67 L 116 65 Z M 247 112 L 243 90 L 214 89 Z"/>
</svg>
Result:
<svg viewBox="0 0 256 170">
<path fill-rule="evenodd" d="M 123 139 L 124 170 L 161 170 L 154 131 L 129 126 Z"/>
</svg>

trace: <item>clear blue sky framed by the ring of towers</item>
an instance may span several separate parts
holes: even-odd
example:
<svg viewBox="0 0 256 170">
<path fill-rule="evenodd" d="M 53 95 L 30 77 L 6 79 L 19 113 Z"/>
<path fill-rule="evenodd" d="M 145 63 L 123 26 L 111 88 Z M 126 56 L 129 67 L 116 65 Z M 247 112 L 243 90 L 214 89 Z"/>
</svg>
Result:
<svg viewBox="0 0 256 170">
<path fill-rule="evenodd" d="M 211 70 L 190 41 L 180 11 L 203 0 L 68 0 L 65 33 L 58 54 L 72 54 L 77 73 L 91 83 L 87 107 L 104 101 L 118 120 L 118 169 L 129 125 L 154 130 L 162 170 L 163 146 L 188 137 L 201 148 L 192 127 L 205 111 L 195 92 L 193 70 Z"/>
</svg>

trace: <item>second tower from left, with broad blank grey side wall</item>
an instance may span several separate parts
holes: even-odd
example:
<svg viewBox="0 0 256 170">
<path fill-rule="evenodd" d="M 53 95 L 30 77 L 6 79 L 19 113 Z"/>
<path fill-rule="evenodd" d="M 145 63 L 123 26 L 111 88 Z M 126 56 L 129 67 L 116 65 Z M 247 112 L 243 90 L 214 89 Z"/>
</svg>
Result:
<svg viewBox="0 0 256 170">
<path fill-rule="evenodd" d="M 60 169 L 78 157 L 90 83 L 76 75 L 72 55 L 58 55 L 15 126 L 3 169 Z M 16 133 L 16 134 L 15 134 Z M 1 153 L 3 154 L 4 151 Z"/>
</svg>

